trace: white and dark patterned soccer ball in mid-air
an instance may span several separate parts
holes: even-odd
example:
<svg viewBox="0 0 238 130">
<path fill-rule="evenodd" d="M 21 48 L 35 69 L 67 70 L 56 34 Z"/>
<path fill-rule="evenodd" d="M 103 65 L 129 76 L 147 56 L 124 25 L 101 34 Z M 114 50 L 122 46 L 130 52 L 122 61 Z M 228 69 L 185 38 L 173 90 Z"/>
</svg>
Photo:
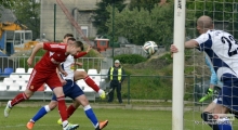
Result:
<svg viewBox="0 0 238 130">
<path fill-rule="evenodd" d="M 158 46 L 155 41 L 146 41 L 142 48 L 146 54 L 153 55 L 158 50 Z"/>
</svg>

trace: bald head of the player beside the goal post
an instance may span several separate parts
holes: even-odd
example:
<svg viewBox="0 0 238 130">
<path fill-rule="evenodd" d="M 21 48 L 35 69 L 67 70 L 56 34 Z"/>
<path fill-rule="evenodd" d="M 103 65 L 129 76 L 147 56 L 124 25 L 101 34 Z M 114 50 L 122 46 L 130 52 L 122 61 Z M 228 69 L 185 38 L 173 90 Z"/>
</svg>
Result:
<svg viewBox="0 0 238 130">
<path fill-rule="evenodd" d="M 213 29 L 212 18 L 206 15 L 200 16 L 197 21 L 197 28 L 203 31 L 207 31 L 208 29 Z"/>
</svg>

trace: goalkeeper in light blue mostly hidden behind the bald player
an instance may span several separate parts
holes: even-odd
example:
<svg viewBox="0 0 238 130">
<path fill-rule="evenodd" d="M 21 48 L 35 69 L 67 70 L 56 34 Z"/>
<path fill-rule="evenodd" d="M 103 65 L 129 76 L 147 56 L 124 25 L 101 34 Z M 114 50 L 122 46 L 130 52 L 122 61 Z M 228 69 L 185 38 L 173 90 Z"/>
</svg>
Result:
<svg viewBox="0 0 238 130">
<path fill-rule="evenodd" d="M 211 62 L 209 61 L 209 57 L 208 57 L 207 54 L 206 54 L 204 60 L 206 60 L 206 64 L 209 66 L 210 72 L 211 72 L 210 87 L 209 87 L 209 89 L 208 89 L 208 91 L 207 91 L 207 94 L 206 94 L 203 98 L 201 98 L 201 99 L 199 100 L 199 102 L 203 102 L 203 101 L 208 100 L 209 98 L 211 98 L 211 96 L 213 95 L 213 93 L 214 93 L 214 87 L 215 87 L 215 86 L 217 86 L 217 87 L 220 87 L 220 88 L 223 86 L 222 82 L 217 79 L 217 76 L 216 76 L 216 74 L 215 74 L 215 70 L 214 70 L 214 68 L 213 68 Z"/>
</svg>

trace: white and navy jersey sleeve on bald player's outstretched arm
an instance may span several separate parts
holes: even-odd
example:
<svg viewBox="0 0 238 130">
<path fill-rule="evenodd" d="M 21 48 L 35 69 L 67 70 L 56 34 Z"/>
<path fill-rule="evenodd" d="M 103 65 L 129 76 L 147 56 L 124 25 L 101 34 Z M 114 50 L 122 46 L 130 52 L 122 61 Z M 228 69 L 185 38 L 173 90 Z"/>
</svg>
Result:
<svg viewBox="0 0 238 130">
<path fill-rule="evenodd" d="M 198 42 L 198 44 L 199 44 L 198 50 L 199 51 L 204 51 L 207 49 L 211 49 L 211 47 L 212 47 L 212 40 L 211 40 L 211 36 L 209 34 L 202 34 L 194 40 Z"/>
</svg>

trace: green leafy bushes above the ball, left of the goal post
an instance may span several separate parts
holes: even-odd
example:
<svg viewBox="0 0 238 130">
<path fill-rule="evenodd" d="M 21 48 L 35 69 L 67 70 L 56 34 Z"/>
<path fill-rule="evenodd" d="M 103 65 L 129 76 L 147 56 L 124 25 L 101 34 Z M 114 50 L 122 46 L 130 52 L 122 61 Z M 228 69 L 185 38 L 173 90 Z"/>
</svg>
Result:
<svg viewBox="0 0 238 130">
<path fill-rule="evenodd" d="M 131 43 L 142 46 L 145 41 L 153 40 L 164 47 L 170 46 L 173 37 L 173 4 L 155 5 L 151 12 L 141 9 L 123 11 L 115 10 L 115 29 L 113 29 L 113 6 L 108 5 L 110 18 L 106 26 L 108 34 L 115 37 L 123 36 Z M 169 39 L 169 40 L 168 40 Z"/>
</svg>

